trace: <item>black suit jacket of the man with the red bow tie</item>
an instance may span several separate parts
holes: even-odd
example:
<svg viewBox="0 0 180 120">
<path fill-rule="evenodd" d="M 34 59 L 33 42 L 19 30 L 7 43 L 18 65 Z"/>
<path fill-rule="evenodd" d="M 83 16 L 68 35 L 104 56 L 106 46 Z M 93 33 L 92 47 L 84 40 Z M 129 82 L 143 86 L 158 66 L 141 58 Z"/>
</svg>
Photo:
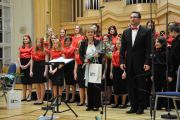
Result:
<svg viewBox="0 0 180 120">
<path fill-rule="evenodd" d="M 126 29 L 122 35 L 122 46 L 120 51 L 120 64 L 126 64 L 127 70 L 138 73 L 144 72 L 144 64 L 150 65 L 151 53 L 150 31 L 139 26 L 137 36 L 132 47 L 132 30 Z"/>
</svg>

